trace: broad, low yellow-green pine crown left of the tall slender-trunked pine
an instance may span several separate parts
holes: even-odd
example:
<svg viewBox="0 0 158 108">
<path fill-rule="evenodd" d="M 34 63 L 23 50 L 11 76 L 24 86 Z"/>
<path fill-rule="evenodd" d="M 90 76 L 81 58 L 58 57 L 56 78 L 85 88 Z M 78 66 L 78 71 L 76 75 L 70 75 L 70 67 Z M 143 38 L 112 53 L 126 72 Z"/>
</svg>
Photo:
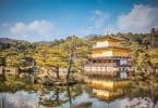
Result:
<svg viewBox="0 0 158 108">
<path fill-rule="evenodd" d="M 57 48 L 37 46 L 34 58 L 39 67 L 64 67 L 66 54 Z"/>
</svg>

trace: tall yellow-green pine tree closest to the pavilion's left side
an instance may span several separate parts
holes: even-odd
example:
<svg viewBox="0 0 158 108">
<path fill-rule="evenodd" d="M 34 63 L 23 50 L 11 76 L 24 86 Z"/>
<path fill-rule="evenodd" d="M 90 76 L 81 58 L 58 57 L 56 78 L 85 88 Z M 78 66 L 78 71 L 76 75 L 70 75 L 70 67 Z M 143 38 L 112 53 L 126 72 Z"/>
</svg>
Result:
<svg viewBox="0 0 158 108">
<path fill-rule="evenodd" d="M 90 42 L 83 40 L 82 38 L 70 36 L 61 44 L 61 48 L 66 52 L 68 56 L 68 76 L 70 78 L 71 71 L 81 70 L 85 63 L 85 59 L 89 56 Z"/>
</svg>

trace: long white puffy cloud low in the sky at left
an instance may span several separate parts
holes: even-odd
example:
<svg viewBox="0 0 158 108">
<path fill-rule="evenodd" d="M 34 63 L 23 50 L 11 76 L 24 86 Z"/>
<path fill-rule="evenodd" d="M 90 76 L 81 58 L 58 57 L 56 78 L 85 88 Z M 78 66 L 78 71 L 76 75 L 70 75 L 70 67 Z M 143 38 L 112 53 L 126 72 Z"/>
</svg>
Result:
<svg viewBox="0 0 158 108">
<path fill-rule="evenodd" d="M 10 31 L 13 35 L 31 37 L 31 36 L 52 36 L 54 32 L 54 26 L 48 21 L 34 21 L 31 23 L 16 23 L 10 27 Z"/>
</svg>

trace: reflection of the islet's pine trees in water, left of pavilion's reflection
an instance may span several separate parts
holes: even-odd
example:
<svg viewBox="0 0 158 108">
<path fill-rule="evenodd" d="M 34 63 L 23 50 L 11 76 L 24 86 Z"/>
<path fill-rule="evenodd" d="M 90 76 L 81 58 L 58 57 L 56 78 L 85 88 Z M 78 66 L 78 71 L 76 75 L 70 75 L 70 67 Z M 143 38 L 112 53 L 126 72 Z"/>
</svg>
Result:
<svg viewBox="0 0 158 108">
<path fill-rule="evenodd" d="M 46 87 L 45 87 L 46 89 Z M 89 106 L 89 103 L 81 103 L 80 105 L 74 105 L 73 100 L 83 93 L 82 85 L 73 85 L 73 86 L 57 86 L 52 87 L 52 90 L 47 89 L 51 92 L 46 92 L 40 96 L 39 104 L 45 107 L 59 107 L 59 106 L 69 106 L 70 108 L 85 108 L 84 106 Z M 46 90 L 45 90 L 46 91 Z M 87 107 L 86 107 L 87 108 Z"/>
</svg>

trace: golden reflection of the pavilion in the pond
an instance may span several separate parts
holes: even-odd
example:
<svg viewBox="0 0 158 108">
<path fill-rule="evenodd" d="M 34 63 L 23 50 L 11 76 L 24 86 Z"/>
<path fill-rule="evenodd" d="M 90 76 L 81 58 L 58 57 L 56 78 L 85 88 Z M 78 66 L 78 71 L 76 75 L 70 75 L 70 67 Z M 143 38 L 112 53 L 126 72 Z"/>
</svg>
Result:
<svg viewBox="0 0 158 108">
<path fill-rule="evenodd" d="M 92 87 L 93 96 L 104 99 L 107 103 L 123 96 L 124 87 L 129 84 L 129 81 L 126 80 L 85 79 L 87 85 Z"/>
</svg>

